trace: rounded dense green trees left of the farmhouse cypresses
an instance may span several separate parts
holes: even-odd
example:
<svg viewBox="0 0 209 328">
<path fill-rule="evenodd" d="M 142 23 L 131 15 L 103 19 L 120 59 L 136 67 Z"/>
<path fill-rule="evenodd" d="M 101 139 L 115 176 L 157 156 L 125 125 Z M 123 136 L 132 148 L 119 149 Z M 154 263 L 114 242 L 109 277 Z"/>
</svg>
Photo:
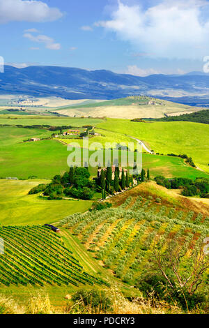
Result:
<svg viewBox="0 0 209 328">
<path fill-rule="evenodd" d="M 91 200 L 94 195 L 95 184 L 91 181 L 88 167 L 70 167 L 63 176 L 55 175 L 50 184 L 40 184 L 29 191 L 29 194 L 43 192 L 48 200 L 61 200 L 63 195 Z"/>
</svg>

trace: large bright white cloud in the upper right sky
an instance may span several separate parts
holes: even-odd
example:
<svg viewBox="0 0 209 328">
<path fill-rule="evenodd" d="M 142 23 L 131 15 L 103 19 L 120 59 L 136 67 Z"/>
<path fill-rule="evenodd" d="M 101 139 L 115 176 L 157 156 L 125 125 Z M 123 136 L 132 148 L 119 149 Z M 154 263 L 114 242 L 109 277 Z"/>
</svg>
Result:
<svg viewBox="0 0 209 328">
<path fill-rule="evenodd" d="M 196 58 L 209 53 L 208 1 L 161 0 L 142 8 L 118 0 L 111 20 L 97 22 L 129 41 L 137 51 L 157 57 Z"/>
</svg>

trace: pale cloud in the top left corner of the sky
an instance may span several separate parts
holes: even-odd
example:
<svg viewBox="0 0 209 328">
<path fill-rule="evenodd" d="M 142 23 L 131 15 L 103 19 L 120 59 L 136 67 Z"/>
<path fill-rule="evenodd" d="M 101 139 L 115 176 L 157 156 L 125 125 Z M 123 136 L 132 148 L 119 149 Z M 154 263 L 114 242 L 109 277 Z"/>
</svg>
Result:
<svg viewBox="0 0 209 328">
<path fill-rule="evenodd" d="M 35 0 L 0 0 L 0 23 L 7 22 L 52 22 L 63 14 L 58 8 Z"/>
</svg>

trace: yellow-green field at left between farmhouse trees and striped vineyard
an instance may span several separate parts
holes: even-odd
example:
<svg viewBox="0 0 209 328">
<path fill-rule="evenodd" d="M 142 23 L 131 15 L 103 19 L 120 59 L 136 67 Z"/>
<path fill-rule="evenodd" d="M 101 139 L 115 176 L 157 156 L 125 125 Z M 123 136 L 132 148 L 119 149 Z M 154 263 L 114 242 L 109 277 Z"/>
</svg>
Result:
<svg viewBox="0 0 209 328">
<path fill-rule="evenodd" d="M 28 195 L 29 190 L 47 180 L 0 180 L 0 223 L 3 225 L 36 225 L 54 223 L 61 218 L 84 212 L 91 200 L 43 200 Z"/>
</svg>

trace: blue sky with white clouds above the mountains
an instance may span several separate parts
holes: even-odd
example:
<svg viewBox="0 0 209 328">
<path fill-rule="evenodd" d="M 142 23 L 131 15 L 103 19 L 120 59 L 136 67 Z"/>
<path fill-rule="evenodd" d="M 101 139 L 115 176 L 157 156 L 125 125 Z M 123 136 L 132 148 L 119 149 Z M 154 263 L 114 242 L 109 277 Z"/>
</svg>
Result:
<svg viewBox="0 0 209 328">
<path fill-rule="evenodd" d="M 203 70 L 209 0 L 0 0 L 0 57 L 132 75 Z"/>
</svg>

